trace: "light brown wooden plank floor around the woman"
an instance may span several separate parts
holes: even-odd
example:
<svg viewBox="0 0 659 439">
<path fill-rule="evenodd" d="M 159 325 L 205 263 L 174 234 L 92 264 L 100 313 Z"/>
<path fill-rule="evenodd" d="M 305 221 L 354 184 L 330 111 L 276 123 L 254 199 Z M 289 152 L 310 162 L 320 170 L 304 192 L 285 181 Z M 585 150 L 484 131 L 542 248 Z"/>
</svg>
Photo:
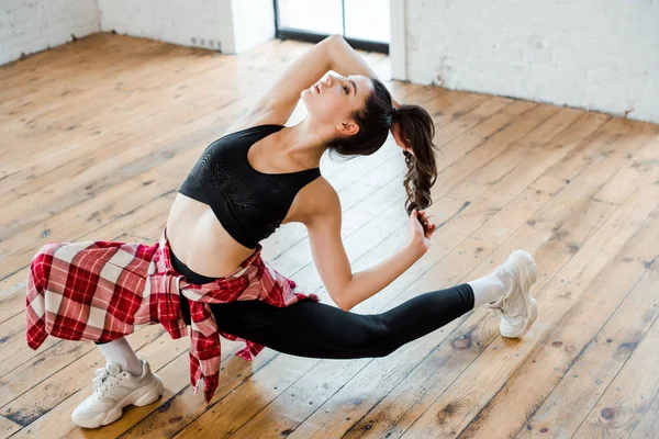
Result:
<svg viewBox="0 0 659 439">
<path fill-rule="evenodd" d="M 76 428 L 102 356 L 91 342 L 25 342 L 26 269 L 47 241 L 159 237 L 203 148 L 310 46 L 272 41 L 225 56 L 94 35 L 0 68 L 0 438 L 657 438 L 659 437 L 659 126 L 484 94 L 389 81 L 434 114 L 440 173 L 431 250 L 354 312 L 488 274 L 534 254 L 539 318 L 521 340 L 478 309 L 379 359 L 317 360 L 266 349 L 253 362 L 223 340 L 208 407 L 193 395 L 189 341 L 160 326 L 130 337 L 164 379 L 163 398 L 116 423 Z M 300 109 L 292 117 L 303 117 Z M 338 190 L 354 270 L 406 239 L 403 157 L 321 169 Z M 321 289 L 298 225 L 264 256 Z"/>
</svg>

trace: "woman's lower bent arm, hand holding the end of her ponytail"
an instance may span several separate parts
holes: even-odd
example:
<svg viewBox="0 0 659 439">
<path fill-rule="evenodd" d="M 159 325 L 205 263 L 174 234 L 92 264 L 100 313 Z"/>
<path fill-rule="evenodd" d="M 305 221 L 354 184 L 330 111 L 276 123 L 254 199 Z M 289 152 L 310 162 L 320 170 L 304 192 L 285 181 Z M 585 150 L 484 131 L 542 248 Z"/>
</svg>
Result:
<svg viewBox="0 0 659 439">
<path fill-rule="evenodd" d="M 409 244 L 377 266 L 353 273 L 340 237 L 342 214 L 338 195 L 334 189 L 324 191 L 322 196 L 316 198 L 316 203 L 323 207 L 317 209 L 315 214 L 305 221 L 313 260 L 325 290 L 344 311 L 351 309 L 383 290 L 412 267 L 427 251 L 435 230 L 435 226 L 428 224 L 428 232 L 424 233 L 417 214 L 413 213 L 410 218 Z M 418 215 L 427 223 L 425 213 Z"/>
</svg>

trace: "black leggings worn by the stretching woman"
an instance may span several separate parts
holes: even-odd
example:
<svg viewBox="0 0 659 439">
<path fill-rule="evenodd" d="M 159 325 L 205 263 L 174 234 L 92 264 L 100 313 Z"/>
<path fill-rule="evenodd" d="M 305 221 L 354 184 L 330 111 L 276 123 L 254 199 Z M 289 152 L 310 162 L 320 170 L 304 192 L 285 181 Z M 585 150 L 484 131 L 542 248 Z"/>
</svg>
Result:
<svg viewBox="0 0 659 439">
<path fill-rule="evenodd" d="M 174 254 L 171 262 L 189 282 L 213 280 L 194 273 Z M 258 300 L 211 304 L 221 331 L 293 356 L 332 359 L 388 356 L 472 308 L 467 283 L 421 294 L 382 314 L 356 314 L 311 300 L 281 308 Z M 181 312 L 189 325 L 182 295 Z"/>
</svg>

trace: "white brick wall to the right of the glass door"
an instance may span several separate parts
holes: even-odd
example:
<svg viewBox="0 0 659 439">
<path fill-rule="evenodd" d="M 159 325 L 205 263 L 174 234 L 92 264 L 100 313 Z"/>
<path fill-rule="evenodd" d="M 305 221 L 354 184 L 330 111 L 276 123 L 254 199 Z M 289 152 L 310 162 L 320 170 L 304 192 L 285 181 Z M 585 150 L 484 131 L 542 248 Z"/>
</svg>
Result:
<svg viewBox="0 0 659 439">
<path fill-rule="evenodd" d="M 659 123 L 659 0 L 407 0 L 412 82 Z"/>
</svg>

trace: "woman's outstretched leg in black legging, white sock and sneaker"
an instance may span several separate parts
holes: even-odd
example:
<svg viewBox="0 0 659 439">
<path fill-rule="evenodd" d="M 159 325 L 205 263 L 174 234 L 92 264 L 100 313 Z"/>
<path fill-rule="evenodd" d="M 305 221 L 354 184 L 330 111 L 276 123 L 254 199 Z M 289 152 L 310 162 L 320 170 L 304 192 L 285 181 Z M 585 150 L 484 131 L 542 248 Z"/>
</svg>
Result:
<svg viewBox="0 0 659 439">
<path fill-rule="evenodd" d="M 221 331 L 280 352 L 332 359 L 383 357 L 474 306 L 499 309 L 502 335 L 521 337 L 537 317 L 529 294 L 535 272 L 533 257 L 514 251 L 492 274 L 421 294 L 381 314 L 350 313 L 312 301 L 282 308 L 238 301 L 211 308 Z"/>
</svg>

